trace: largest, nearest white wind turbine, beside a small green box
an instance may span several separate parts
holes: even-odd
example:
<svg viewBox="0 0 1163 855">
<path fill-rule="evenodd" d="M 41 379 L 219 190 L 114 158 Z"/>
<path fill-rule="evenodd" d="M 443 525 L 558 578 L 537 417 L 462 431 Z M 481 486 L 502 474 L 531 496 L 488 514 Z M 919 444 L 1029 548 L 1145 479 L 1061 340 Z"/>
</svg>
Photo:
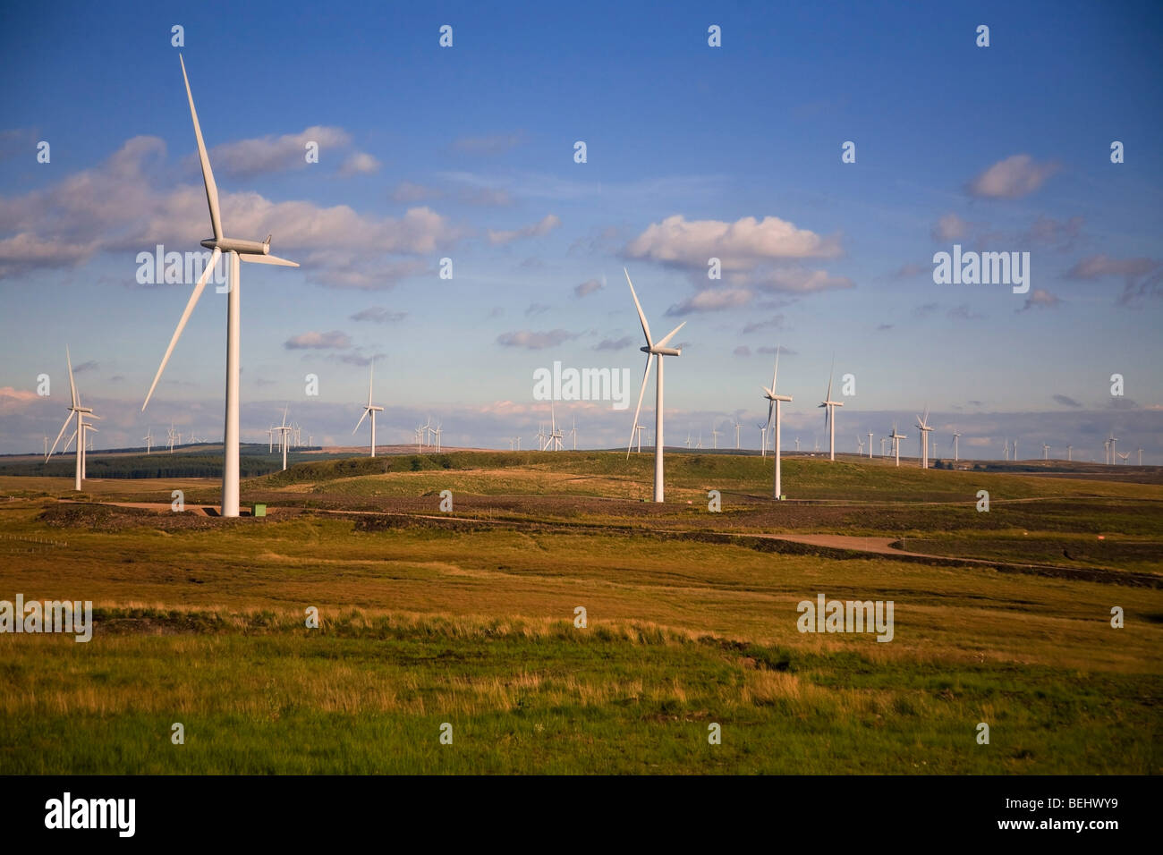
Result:
<svg viewBox="0 0 1163 855">
<path fill-rule="evenodd" d="M 149 404 L 149 399 L 154 394 L 154 390 L 157 387 L 158 380 L 162 379 L 162 372 L 165 371 L 165 364 L 170 361 L 170 355 L 173 352 L 173 348 L 178 343 L 178 339 L 181 336 L 181 330 L 185 329 L 186 321 L 190 320 L 190 315 L 193 313 L 194 306 L 198 305 L 198 298 L 202 295 L 202 290 L 206 287 L 206 283 L 209 280 L 211 273 L 214 271 L 219 258 L 223 252 L 229 252 L 230 292 L 227 299 L 226 315 L 226 427 L 222 434 L 222 516 L 237 516 L 238 351 L 242 341 L 240 326 L 242 314 L 242 273 L 238 262 L 243 261 L 259 264 L 279 264 L 287 268 L 298 268 L 299 265 L 294 262 L 288 262 L 285 258 L 278 258 L 271 255 L 270 235 L 267 235 L 266 240 L 262 243 L 258 241 L 240 241 L 223 235 L 222 214 L 219 209 L 217 185 L 214 183 L 214 173 L 211 171 L 211 161 L 206 155 L 206 143 L 202 140 L 202 129 L 198 123 L 198 112 L 194 109 L 194 97 L 190 91 L 190 78 L 186 76 L 186 63 L 180 56 L 178 59 L 181 63 L 181 79 L 186 84 L 186 99 L 190 101 L 190 117 L 194 123 L 194 137 L 198 141 L 198 157 L 202 164 L 202 183 L 206 185 L 206 201 L 211 209 L 211 228 L 214 230 L 214 237 L 206 238 L 201 242 L 201 245 L 214 251 L 211 254 L 211 259 L 206 264 L 206 269 L 202 271 L 202 275 L 198 278 L 198 284 L 194 285 L 194 290 L 190 294 L 190 301 L 186 304 L 186 311 L 181 313 L 181 319 L 178 321 L 178 328 L 173 330 L 173 337 L 170 340 L 170 347 L 166 348 L 165 356 L 162 357 L 162 364 L 157 369 L 157 376 L 154 377 L 154 384 L 149 387 L 149 393 L 145 396 L 145 402 L 142 404 L 142 412 L 145 411 L 145 406 Z M 285 454 L 286 447 L 284 444 L 284 455 Z"/>
</svg>

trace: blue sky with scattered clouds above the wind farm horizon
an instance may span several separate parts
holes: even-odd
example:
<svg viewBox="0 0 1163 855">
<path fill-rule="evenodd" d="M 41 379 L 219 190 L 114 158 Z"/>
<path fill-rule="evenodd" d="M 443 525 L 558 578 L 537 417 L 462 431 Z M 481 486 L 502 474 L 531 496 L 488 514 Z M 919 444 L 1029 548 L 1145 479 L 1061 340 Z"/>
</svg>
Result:
<svg viewBox="0 0 1163 855">
<path fill-rule="evenodd" d="M 1093 458 L 1115 430 L 1120 449 L 1163 462 L 1157 3 L 0 15 L 0 453 L 59 428 L 66 343 L 106 416 L 100 444 L 171 419 L 221 434 L 213 291 L 137 412 L 190 284 L 137 285 L 136 255 L 209 234 L 170 43 L 181 24 L 227 233 L 273 231 L 272 251 L 302 263 L 244 270 L 244 439 L 288 404 L 316 442 L 350 443 L 376 356 L 381 442 L 430 413 L 445 442 L 528 447 L 548 415 L 537 368 L 629 368 L 636 393 L 626 265 L 656 335 L 686 321 L 666 366 L 671 443 L 701 429 L 709 444 L 736 416 L 754 426 L 782 344 L 785 447 L 822 442 L 835 352 L 837 377 L 856 376 L 843 450 L 927 405 L 939 434 L 962 430 L 964 456 L 1021 436 L 1023 451 L 1069 442 Z M 445 23 L 451 48 L 437 44 Z M 934 284 L 933 254 L 954 243 L 1028 251 L 1030 292 Z M 443 257 L 452 280 L 436 275 Z M 605 285 L 579 297 L 590 280 Z M 48 400 L 33 392 L 42 372 Z M 630 414 L 608 404 L 559 412 L 583 446 L 629 435 Z M 743 436 L 757 446 L 754 427 Z"/>
</svg>

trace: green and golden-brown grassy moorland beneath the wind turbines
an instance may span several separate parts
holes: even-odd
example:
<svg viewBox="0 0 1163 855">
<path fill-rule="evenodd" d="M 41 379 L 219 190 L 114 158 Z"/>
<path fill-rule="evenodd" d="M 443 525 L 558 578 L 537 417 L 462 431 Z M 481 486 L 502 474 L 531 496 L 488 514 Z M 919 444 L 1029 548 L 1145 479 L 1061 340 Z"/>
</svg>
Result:
<svg viewBox="0 0 1163 855">
<path fill-rule="evenodd" d="M 214 480 L 93 482 L 78 505 L 58 503 L 77 498 L 71 482 L 0 478 L 14 497 L 0 599 L 97 608 L 88 643 L 0 635 L 0 771 L 1163 769 L 1163 589 L 1114 584 L 1163 578 L 1163 486 L 792 458 L 785 492 L 807 500 L 775 504 L 770 459 L 673 454 L 659 507 L 642 501 L 649 466 L 604 453 L 302 463 L 245 482 L 271 515 L 238 520 L 167 510 L 174 489 L 213 501 Z M 878 535 L 1110 573 L 715 533 Z M 818 593 L 892 600 L 893 640 L 798 632 L 797 604 Z"/>
</svg>

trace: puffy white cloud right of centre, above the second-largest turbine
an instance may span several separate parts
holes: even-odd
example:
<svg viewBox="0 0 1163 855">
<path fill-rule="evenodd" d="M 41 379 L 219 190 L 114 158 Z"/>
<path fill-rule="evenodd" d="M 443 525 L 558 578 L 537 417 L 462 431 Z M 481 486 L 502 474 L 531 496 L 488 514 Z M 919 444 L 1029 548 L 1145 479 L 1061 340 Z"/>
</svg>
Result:
<svg viewBox="0 0 1163 855">
<path fill-rule="evenodd" d="M 787 258 L 834 258 L 841 254 L 836 237 L 821 237 L 786 220 L 744 216 L 735 222 L 687 220 L 682 214 L 651 223 L 625 249 L 630 258 L 644 258 L 677 268 L 706 270 L 708 258 L 719 258 L 723 270 L 745 271 Z"/>
</svg>

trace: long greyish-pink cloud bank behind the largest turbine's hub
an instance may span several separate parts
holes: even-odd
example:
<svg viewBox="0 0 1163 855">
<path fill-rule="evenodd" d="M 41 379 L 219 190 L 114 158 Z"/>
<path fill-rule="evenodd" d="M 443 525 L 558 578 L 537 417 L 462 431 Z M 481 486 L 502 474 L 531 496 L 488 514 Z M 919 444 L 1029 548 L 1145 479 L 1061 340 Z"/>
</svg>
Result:
<svg viewBox="0 0 1163 855">
<path fill-rule="evenodd" d="M 195 249 L 209 226 L 206 193 L 200 181 L 156 190 L 151 177 L 164 156 L 157 137 L 134 137 L 98 166 L 0 198 L 0 278 L 80 264 L 101 250 L 152 252 L 158 243 Z M 372 216 L 347 205 L 276 202 L 251 192 L 223 193 L 221 206 L 230 234 L 273 234 L 278 255 L 301 262 L 309 278 L 343 287 L 390 287 L 426 265 L 388 256 L 428 255 L 465 234 L 427 207 Z"/>
</svg>

